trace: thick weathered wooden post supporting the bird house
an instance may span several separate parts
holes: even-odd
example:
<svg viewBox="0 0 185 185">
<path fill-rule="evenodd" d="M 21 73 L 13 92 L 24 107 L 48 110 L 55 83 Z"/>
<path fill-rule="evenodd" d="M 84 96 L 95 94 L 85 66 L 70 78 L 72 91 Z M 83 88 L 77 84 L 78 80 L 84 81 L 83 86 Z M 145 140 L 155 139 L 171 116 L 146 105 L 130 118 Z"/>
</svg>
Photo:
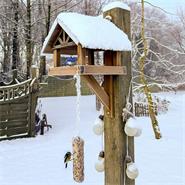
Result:
<svg viewBox="0 0 185 185">
<path fill-rule="evenodd" d="M 114 8 L 104 12 L 104 17 L 107 15 L 110 15 L 112 22 L 130 38 L 130 12 Z M 104 59 L 106 60 L 106 56 Z M 105 109 L 105 185 L 134 185 L 135 182 L 128 179 L 125 175 L 126 169 L 124 165 L 127 148 L 129 154 L 134 158 L 134 141 L 133 138 L 129 138 L 129 146 L 127 146 L 124 123 L 122 121 L 122 109 L 126 105 L 126 97 L 129 94 L 131 81 L 131 52 L 116 52 L 112 60 L 113 65 L 126 66 L 127 75 L 112 77 L 113 98 L 111 101 L 113 104 L 113 116 Z M 105 90 L 107 90 L 108 86 L 106 78 L 104 82 Z M 108 81 L 111 81 L 110 77 Z"/>
</svg>

